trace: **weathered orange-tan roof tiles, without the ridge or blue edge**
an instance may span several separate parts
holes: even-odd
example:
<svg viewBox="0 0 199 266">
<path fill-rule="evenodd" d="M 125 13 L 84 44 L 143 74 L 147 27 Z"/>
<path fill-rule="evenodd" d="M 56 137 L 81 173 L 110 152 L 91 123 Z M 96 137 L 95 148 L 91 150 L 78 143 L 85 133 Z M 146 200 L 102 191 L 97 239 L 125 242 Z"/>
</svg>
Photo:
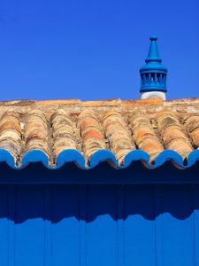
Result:
<svg viewBox="0 0 199 266">
<path fill-rule="evenodd" d="M 158 100 L 148 103 L 159 106 Z M 199 113 L 180 116 L 169 106 L 152 114 L 144 108 L 126 113 L 114 107 L 100 112 L 85 107 L 79 113 L 60 107 L 50 113 L 41 108 L 25 113 L 0 108 L 0 150 L 11 153 L 17 167 L 31 151 L 42 151 L 51 167 L 57 166 L 58 156 L 67 150 L 82 154 L 86 167 L 95 153 L 108 151 L 122 167 L 133 151 L 149 154 L 149 163 L 165 150 L 186 161 L 198 147 Z"/>
</svg>

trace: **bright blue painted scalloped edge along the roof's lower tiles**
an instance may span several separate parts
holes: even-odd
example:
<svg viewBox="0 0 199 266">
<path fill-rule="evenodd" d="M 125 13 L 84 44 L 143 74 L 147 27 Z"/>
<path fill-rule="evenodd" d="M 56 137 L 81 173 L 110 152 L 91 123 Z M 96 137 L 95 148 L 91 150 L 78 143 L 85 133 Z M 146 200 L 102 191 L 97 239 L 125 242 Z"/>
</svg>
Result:
<svg viewBox="0 0 199 266">
<path fill-rule="evenodd" d="M 134 150 L 130 153 L 126 154 L 124 162 L 122 165 L 119 165 L 118 161 L 115 158 L 115 155 L 108 150 L 100 150 L 94 153 L 90 160 L 88 161 L 88 166 L 86 165 L 86 161 L 83 155 L 73 149 L 68 149 L 59 153 L 57 156 L 57 165 L 56 167 L 51 167 L 49 165 L 49 158 L 46 153 L 43 153 L 41 150 L 33 150 L 26 153 L 22 159 L 21 165 L 16 166 L 14 163 L 14 158 L 7 150 L 0 149 L 0 162 L 6 162 L 11 168 L 20 169 L 25 168 L 28 164 L 32 162 L 42 162 L 42 164 L 46 168 L 50 169 L 57 169 L 62 168 L 65 163 L 67 162 L 74 162 L 79 168 L 82 169 L 90 169 L 95 168 L 99 165 L 102 161 L 106 161 L 111 164 L 114 168 L 127 168 L 129 167 L 134 161 L 142 161 L 142 163 L 147 168 L 158 168 L 165 163 L 165 161 L 172 161 L 172 163 L 177 168 L 185 169 L 192 167 L 197 160 L 199 160 L 199 149 L 193 151 L 188 155 L 188 161 L 185 165 L 182 157 L 179 153 L 176 153 L 172 150 L 165 150 L 164 152 L 160 153 L 154 163 L 149 162 L 149 154 L 145 153 L 142 150 Z"/>
</svg>

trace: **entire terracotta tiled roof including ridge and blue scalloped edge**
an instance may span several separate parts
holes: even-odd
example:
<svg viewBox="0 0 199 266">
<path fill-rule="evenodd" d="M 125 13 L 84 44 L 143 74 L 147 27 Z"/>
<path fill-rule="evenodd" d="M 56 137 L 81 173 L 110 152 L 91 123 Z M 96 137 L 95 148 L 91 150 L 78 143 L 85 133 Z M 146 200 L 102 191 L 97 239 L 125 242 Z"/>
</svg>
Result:
<svg viewBox="0 0 199 266">
<path fill-rule="evenodd" d="M 198 147 L 199 98 L 0 102 L 0 161 L 11 168 L 74 161 L 88 169 L 104 160 L 115 168 L 134 160 L 187 168 L 199 160 Z"/>
</svg>

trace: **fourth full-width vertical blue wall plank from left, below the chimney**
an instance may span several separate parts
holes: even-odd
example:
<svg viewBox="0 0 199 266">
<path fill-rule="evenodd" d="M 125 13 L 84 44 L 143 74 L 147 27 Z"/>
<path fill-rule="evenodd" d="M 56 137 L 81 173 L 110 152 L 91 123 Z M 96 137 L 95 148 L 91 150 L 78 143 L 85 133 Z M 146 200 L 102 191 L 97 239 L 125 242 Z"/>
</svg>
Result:
<svg viewBox="0 0 199 266">
<path fill-rule="evenodd" d="M 124 217 L 125 266 L 156 265 L 152 185 L 126 185 Z"/>
</svg>

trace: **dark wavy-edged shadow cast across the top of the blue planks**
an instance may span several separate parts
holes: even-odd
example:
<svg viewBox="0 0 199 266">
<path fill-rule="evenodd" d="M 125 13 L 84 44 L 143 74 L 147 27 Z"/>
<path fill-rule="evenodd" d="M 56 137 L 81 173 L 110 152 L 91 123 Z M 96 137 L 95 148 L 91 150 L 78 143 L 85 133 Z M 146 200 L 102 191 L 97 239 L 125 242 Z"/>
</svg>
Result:
<svg viewBox="0 0 199 266">
<path fill-rule="evenodd" d="M 199 185 L 192 184 L 2 184 L 0 219 L 59 223 L 74 217 L 92 223 L 107 215 L 114 221 L 140 216 L 154 221 L 170 214 L 187 219 L 199 210 Z"/>
</svg>

